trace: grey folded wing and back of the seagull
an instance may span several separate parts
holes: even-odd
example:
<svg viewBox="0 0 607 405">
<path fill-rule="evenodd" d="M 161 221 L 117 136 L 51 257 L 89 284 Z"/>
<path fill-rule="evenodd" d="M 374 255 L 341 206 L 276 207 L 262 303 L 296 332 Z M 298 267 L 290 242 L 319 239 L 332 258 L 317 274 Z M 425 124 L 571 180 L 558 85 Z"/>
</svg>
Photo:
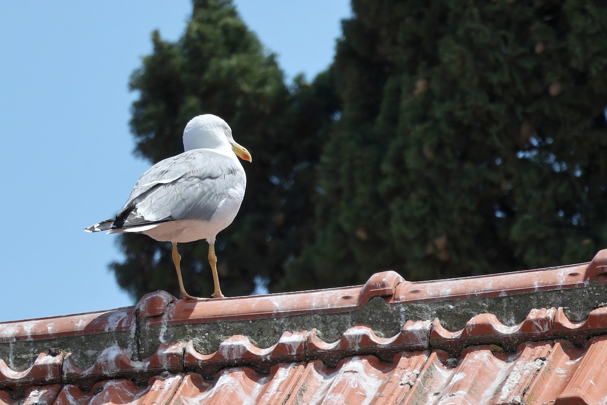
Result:
<svg viewBox="0 0 607 405">
<path fill-rule="evenodd" d="M 240 163 L 225 155 L 200 149 L 184 152 L 146 171 L 121 214 L 140 218 L 136 223 L 131 220 L 132 225 L 178 219 L 209 220 L 231 190 L 244 188 L 245 182 Z"/>
</svg>

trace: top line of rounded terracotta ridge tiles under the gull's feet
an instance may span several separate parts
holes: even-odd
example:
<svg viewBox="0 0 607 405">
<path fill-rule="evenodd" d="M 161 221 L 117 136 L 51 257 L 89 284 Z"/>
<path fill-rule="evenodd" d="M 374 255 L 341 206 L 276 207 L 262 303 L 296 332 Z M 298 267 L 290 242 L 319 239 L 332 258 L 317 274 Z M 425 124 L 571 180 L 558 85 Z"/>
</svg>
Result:
<svg viewBox="0 0 607 405">
<path fill-rule="evenodd" d="M 597 295 L 605 290 L 603 284 L 607 284 L 607 277 L 599 277 L 607 274 L 606 267 L 607 250 L 602 250 L 592 262 L 586 264 L 460 279 L 409 282 L 395 271 L 384 271 L 373 274 L 362 286 L 200 301 L 183 301 L 166 291 L 156 291 L 143 296 L 134 307 L 21 322 L 0 322 L 0 343 L 132 332 L 138 327 L 137 322 L 140 322 L 141 327 L 166 329 L 181 324 L 285 318 L 311 312 L 348 313 L 362 309 L 373 297 L 382 297 L 390 305 L 429 305 L 429 302 L 504 299 L 518 294 L 554 291 L 543 304 L 548 306 L 552 303 L 555 307 L 570 308 L 571 300 L 575 297 L 571 298 L 569 294 L 569 298 L 562 301 L 554 298 L 557 296 L 555 292 L 579 288 L 583 295 L 587 294 L 585 289 L 588 287 L 591 288 L 588 293 Z M 596 290 L 600 286 L 603 286 L 602 289 Z M 575 310 L 577 318 L 585 315 L 588 306 L 592 308 L 593 305 L 600 305 L 598 298 L 594 301 L 589 302 L 583 310 Z M 444 307 L 444 304 L 440 305 Z M 482 305 L 478 306 L 479 310 L 481 308 Z M 570 310 L 574 308 L 571 307 Z M 497 311 L 497 308 L 492 311 Z"/>
</svg>

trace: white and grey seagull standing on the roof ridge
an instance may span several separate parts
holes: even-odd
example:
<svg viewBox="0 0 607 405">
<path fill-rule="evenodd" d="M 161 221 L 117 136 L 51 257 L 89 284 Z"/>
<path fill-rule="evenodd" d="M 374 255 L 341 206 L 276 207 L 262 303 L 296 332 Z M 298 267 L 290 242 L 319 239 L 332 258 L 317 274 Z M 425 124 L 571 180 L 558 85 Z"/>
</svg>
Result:
<svg viewBox="0 0 607 405">
<path fill-rule="evenodd" d="M 251 162 L 251 154 L 232 137 L 226 121 L 212 114 L 192 118 L 183 131 L 185 152 L 148 169 L 115 219 L 84 231 L 143 233 L 172 242 L 181 299 L 186 293 L 181 278 L 177 243 L 206 239 L 213 275 L 213 298 L 223 298 L 217 276 L 215 237 L 232 223 L 245 196 L 246 175 L 237 157 Z"/>
</svg>

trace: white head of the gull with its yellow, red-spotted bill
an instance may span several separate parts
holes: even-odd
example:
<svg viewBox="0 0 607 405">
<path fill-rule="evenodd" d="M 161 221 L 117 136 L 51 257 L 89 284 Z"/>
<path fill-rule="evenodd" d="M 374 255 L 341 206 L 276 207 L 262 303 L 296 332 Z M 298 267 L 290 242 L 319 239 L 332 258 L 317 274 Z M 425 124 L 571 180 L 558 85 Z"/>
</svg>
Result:
<svg viewBox="0 0 607 405">
<path fill-rule="evenodd" d="M 228 123 L 217 115 L 205 114 L 192 118 L 183 130 L 183 149 L 216 149 L 234 152 L 242 160 L 251 162 L 251 154 L 232 137 Z"/>
</svg>

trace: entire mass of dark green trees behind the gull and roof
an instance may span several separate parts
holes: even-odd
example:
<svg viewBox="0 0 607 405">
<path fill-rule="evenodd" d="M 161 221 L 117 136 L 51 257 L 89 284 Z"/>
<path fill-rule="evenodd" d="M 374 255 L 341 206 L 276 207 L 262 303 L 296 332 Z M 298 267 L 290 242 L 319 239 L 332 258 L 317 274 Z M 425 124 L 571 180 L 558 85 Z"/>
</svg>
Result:
<svg viewBox="0 0 607 405">
<path fill-rule="evenodd" d="M 607 9 L 598 1 L 354 0 L 330 69 L 284 83 L 228 0 L 194 2 L 131 88 L 137 153 L 181 152 L 198 114 L 253 154 L 219 234 L 228 295 L 589 260 L 607 242 Z M 121 236 L 134 296 L 177 291 L 169 247 Z M 180 247 L 208 296 L 206 243 Z"/>
</svg>

